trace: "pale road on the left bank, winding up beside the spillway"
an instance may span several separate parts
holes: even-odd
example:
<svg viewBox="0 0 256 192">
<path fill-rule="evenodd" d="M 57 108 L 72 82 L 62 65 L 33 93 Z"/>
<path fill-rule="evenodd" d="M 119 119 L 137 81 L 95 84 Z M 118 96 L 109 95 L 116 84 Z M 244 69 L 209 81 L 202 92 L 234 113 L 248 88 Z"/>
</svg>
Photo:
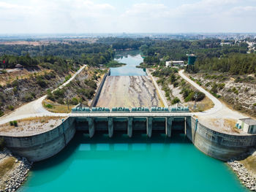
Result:
<svg viewBox="0 0 256 192">
<path fill-rule="evenodd" d="M 70 81 L 74 80 L 74 78 L 83 71 L 83 69 L 86 67 L 86 65 L 83 65 L 80 67 L 78 72 L 75 72 L 73 76 L 67 80 L 67 82 L 64 82 L 62 85 L 59 86 L 59 88 L 64 88 L 67 84 L 69 84 Z M 56 88 L 53 91 L 56 91 L 58 88 Z M 52 92 L 53 92 L 52 91 Z M 8 115 L 4 115 L 0 118 L 0 124 L 8 123 L 11 120 L 19 120 L 23 118 L 31 118 L 31 117 L 42 117 L 42 116 L 67 116 L 68 114 L 65 113 L 54 113 L 49 112 L 48 110 L 45 110 L 45 108 L 42 106 L 42 101 L 46 98 L 46 96 L 42 96 L 37 100 L 31 101 L 28 104 L 24 104 L 23 106 L 19 107 L 15 111 L 11 112 Z"/>
</svg>

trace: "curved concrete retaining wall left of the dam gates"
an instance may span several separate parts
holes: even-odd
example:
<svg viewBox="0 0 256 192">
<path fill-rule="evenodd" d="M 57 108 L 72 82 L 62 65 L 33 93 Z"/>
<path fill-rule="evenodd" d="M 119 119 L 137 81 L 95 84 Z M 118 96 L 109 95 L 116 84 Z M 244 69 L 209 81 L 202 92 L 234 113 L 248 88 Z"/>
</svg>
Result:
<svg viewBox="0 0 256 192">
<path fill-rule="evenodd" d="M 3 136 L 7 147 L 29 161 L 42 161 L 59 153 L 75 135 L 73 118 L 67 118 L 60 126 L 42 134 L 28 137 Z"/>
</svg>

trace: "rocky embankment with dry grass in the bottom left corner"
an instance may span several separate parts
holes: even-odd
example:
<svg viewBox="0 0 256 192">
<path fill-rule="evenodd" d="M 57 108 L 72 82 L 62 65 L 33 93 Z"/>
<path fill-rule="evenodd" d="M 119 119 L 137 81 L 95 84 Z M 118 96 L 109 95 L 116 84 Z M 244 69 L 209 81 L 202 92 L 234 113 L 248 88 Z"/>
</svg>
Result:
<svg viewBox="0 0 256 192">
<path fill-rule="evenodd" d="M 10 158 L 14 161 L 14 164 L 11 166 L 8 162 Z M 7 163 L 5 161 L 7 161 Z M 3 163 L 4 166 L 9 165 L 10 170 L 7 170 L 4 175 L 1 175 L 0 192 L 17 191 L 20 185 L 26 180 L 32 163 L 26 158 L 12 155 L 10 150 L 7 149 L 0 152 L 0 164 L 1 163 Z M 2 168 L 7 169 L 7 167 L 4 166 Z"/>
</svg>

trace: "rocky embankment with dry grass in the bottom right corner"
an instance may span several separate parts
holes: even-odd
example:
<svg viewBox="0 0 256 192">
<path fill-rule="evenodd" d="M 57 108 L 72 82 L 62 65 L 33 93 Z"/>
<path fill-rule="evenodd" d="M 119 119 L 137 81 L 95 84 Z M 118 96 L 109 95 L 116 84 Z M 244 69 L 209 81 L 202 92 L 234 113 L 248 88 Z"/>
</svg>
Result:
<svg viewBox="0 0 256 192">
<path fill-rule="evenodd" d="M 249 155 L 249 156 L 248 156 Z M 227 165 L 236 172 L 241 183 L 249 188 L 251 191 L 256 191 L 256 173 L 252 163 L 255 161 L 256 152 L 244 154 L 244 157 L 239 157 L 238 159 L 244 159 L 242 161 L 238 161 L 236 159 L 231 159 L 227 161 Z M 252 162 L 248 162 L 250 159 Z"/>
</svg>

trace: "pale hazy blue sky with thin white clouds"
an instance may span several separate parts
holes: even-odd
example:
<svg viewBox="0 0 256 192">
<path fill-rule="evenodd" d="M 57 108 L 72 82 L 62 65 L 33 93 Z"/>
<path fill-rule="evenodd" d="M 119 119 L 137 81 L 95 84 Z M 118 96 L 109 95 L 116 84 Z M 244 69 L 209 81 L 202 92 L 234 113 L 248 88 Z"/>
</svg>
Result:
<svg viewBox="0 0 256 192">
<path fill-rule="evenodd" d="M 256 0 L 0 0 L 0 34 L 254 33 Z"/>
</svg>

